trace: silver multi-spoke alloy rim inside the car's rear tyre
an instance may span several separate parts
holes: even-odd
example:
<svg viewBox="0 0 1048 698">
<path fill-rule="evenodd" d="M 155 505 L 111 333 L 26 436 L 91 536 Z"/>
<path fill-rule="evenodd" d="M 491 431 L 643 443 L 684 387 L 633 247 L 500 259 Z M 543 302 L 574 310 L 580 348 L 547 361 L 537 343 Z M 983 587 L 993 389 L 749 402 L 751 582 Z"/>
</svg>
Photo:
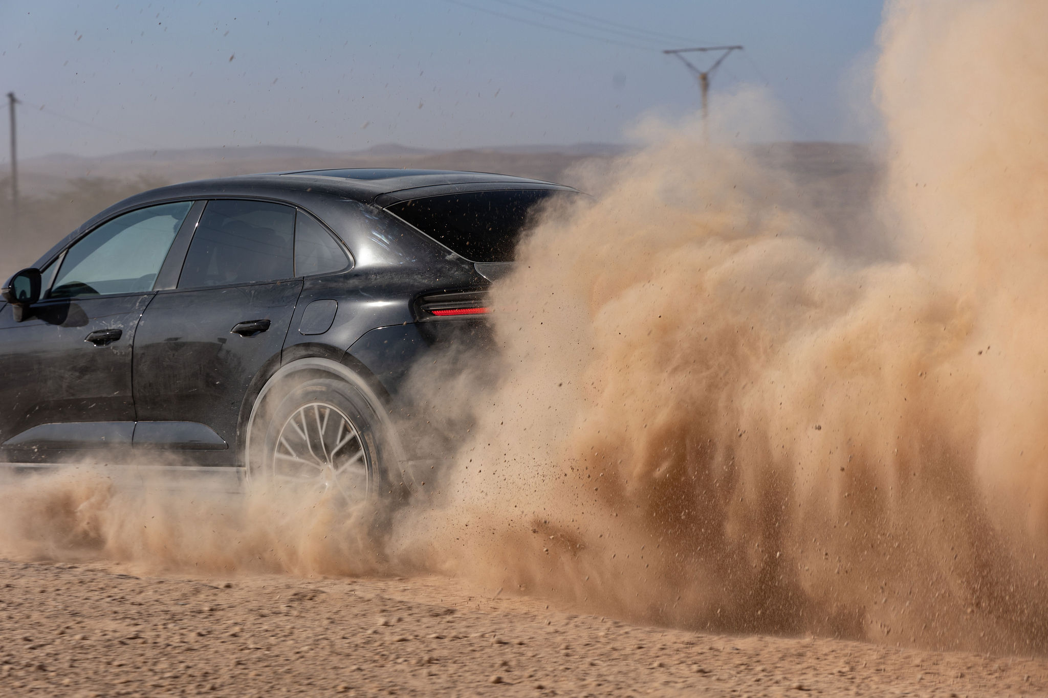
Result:
<svg viewBox="0 0 1048 698">
<path fill-rule="evenodd" d="M 348 501 L 370 491 L 371 464 L 359 431 L 337 407 L 311 402 L 281 427 L 272 453 L 274 479 L 284 485 L 336 490 Z"/>
</svg>

